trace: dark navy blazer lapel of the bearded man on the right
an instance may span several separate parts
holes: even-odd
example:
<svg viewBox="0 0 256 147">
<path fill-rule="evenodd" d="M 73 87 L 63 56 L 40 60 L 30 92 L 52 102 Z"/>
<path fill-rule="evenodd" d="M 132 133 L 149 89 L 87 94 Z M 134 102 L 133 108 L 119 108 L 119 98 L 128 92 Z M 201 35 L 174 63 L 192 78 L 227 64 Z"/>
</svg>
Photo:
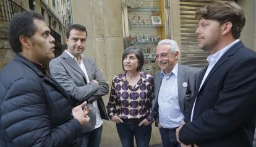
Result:
<svg viewBox="0 0 256 147">
<path fill-rule="evenodd" d="M 244 44 L 239 41 L 238 43 L 234 44 L 233 46 L 231 46 L 230 49 L 228 49 L 228 51 L 226 51 L 223 56 L 221 56 L 221 58 L 218 60 L 218 62 L 216 62 L 216 64 L 214 65 L 213 69 L 211 69 L 210 73 L 208 74 L 207 78 L 205 79 L 205 82 L 203 82 L 203 85 L 200 89 L 200 91 L 202 91 L 202 89 L 204 88 L 204 86 L 207 84 L 208 80 L 211 78 L 211 76 L 213 75 L 213 73 L 216 72 L 216 70 L 224 64 L 224 62 L 228 61 L 229 56 L 232 56 L 237 49 L 241 48 L 242 46 L 244 46 Z M 205 69 L 205 71 L 203 71 L 203 75 L 205 75 L 204 73 L 206 72 L 207 68 Z M 200 93 L 200 91 L 198 91 L 198 93 Z"/>
</svg>

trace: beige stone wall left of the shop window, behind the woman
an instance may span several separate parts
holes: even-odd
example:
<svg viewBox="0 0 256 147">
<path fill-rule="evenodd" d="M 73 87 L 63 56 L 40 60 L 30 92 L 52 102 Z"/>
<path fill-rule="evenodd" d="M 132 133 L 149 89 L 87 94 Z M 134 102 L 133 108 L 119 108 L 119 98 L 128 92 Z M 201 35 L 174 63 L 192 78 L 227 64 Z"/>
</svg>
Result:
<svg viewBox="0 0 256 147">
<path fill-rule="evenodd" d="M 100 72 L 111 86 L 114 75 L 122 72 L 124 44 L 121 1 L 72 0 L 71 2 L 73 23 L 85 25 L 88 31 L 83 54 L 95 59 Z M 108 95 L 104 96 L 103 100 L 106 104 Z M 157 145 L 161 143 L 160 133 L 154 124 L 152 128 L 150 145 Z M 104 120 L 100 146 L 121 146 L 114 122 Z"/>
</svg>

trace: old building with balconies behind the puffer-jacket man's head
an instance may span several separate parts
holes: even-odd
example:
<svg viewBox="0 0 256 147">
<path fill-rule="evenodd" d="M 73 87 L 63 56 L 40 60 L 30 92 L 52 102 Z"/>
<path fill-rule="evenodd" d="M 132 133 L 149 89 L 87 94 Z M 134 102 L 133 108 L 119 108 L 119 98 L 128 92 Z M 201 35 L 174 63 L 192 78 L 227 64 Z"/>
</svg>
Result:
<svg viewBox="0 0 256 147">
<path fill-rule="evenodd" d="M 1 0 L 0 1 L 0 69 L 14 56 L 8 42 L 8 25 L 17 12 L 33 10 L 45 17 L 51 28 L 51 35 L 56 39 L 56 54 L 61 53 L 65 43 L 68 25 L 66 0 Z"/>
</svg>

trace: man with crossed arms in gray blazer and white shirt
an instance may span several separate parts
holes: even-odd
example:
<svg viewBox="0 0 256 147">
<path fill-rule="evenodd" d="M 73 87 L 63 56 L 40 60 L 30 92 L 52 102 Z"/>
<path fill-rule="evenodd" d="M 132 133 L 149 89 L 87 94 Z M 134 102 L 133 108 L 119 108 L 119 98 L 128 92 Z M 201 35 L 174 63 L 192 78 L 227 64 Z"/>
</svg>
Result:
<svg viewBox="0 0 256 147">
<path fill-rule="evenodd" d="M 87 101 L 92 108 L 90 122 L 83 127 L 83 146 L 100 146 L 101 119 L 108 120 L 101 96 L 108 94 L 108 83 L 102 77 L 95 62 L 83 56 L 87 40 L 87 30 L 83 25 L 75 24 L 69 28 L 66 36 L 67 49 L 61 56 L 49 64 L 51 75 L 69 93 L 73 105 Z"/>
</svg>

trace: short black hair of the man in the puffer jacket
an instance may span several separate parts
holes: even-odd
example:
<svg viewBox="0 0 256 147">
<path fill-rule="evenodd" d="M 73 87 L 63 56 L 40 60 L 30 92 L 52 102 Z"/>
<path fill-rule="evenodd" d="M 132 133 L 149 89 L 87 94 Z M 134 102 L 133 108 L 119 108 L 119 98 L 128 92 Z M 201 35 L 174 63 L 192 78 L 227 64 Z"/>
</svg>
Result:
<svg viewBox="0 0 256 147">
<path fill-rule="evenodd" d="M 33 22 L 34 19 L 44 21 L 43 16 L 35 11 L 17 13 L 12 18 L 9 24 L 9 43 L 15 53 L 22 52 L 20 36 L 31 37 L 37 31 L 38 28 Z"/>
</svg>

